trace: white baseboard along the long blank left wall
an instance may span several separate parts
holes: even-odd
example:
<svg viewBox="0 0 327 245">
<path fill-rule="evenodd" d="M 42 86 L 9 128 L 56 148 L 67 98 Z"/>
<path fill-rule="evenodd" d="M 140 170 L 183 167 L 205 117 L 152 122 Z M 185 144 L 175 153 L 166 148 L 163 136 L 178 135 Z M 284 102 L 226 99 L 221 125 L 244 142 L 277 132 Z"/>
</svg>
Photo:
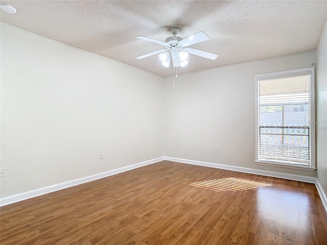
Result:
<svg viewBox="0 0 327 245">
<path fill-rule="evenodd" d="M 138 167 L 142 167 L 142 166 L 146 166 L 149 164 L 153 164 L 159 161 L 164 160 L 164 157 L 158 157 L 155 159 L 151 159 L 148 161 L 144 161 L 144 162 L 139 162 L 139 163 L 135 163 L 132 165 L 128 165 L 125 167 L 120 167 L 120 168 L 116 168 L 116 169 L 112 169 L 110 171 L 106 171 L 100 174 L 96 174 L 96 175 L 91 175 L 91 176 L 86 176 L 83 178 L 79 178 L 79 179 L 75 179 L 75 180 L 70 180 L 70 181 L 66 181 L 66 182 L 62 182 L 59 184 L 55 184 L 55 185 L 50 185 L 50 186 L 45 186 L 42 188 L 38 188 L 35 190 L 30 190 L 30 191 L 26 191 L 26 192 L 22 192 L 22 193 L 18 193 L 18 194 L 14 194 L 14 195 L 10 195 L 9 197 L 5 197 L 5 198 L 1 198 L 0 199 L 0 207 L 2 206 L 6 206 L 12 203 L 16 203 L 16 202 L 20 202 L 20 201 L 24 201 L 30 198 L 35 198 L 38 197 L 39 195 L 44 195 L 50 192 L 54 192 L 57 190 L 62 190 L 68 187 L 72 187 L 75 185 L 80 185 L 80 184 L 84 184 L 86 182 L 90 182 L 90 181 L 94 181 L 94 180 L 98 180 L 98 179 L 102 179 L 111 175 L 116 175 L 128 170 L 132 170 L 134 168 L 138 168 Z"/>
</svg>

